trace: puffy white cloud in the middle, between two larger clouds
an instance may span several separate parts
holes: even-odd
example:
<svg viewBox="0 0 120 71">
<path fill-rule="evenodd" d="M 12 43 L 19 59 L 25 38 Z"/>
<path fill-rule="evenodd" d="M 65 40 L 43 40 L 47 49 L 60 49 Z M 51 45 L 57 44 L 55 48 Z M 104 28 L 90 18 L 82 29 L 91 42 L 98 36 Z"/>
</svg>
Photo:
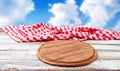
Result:
<svg viewBox="0 0 120 71">
<path fill-rule="evenodd" d="M 49 12 L 53 13 L 54 17 L 50 17 L 48 23 L 55 26 L 67 26 L 80 24 L 81 20 L 78 17 L 78 6 L 75 0 L 66 0 L 65 3 L 53 4 Z"/>
</svg>

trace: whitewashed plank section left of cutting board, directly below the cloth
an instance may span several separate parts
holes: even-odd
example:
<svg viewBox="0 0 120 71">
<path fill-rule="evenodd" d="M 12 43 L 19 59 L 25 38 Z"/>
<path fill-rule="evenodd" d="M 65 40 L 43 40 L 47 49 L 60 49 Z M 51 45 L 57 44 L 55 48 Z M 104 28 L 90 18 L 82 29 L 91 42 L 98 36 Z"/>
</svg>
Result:
<svg viewBox="0 0 120 71">
<path fill-rule="evenodd" d="M 0 51 L 15 51 L 15 50 L 37 50 L 44 42 L 31 42 L 31 43 L 9 43 L 0 44 Z"/>
</svg>

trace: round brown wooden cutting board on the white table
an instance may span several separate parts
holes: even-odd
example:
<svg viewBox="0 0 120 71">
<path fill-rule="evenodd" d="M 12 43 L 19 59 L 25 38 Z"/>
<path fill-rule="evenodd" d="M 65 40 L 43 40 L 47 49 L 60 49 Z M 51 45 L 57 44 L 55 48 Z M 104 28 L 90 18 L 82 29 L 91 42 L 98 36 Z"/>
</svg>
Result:
<svg viewBox="0 0 120 71">
<path fill-rule="evenodd" d="M 97 59 L 92 46 L 75 40 L 48 41 L 39 47 L 37 55 L 43 62 L 57 66 L 81 66 Z"/>
</svg>

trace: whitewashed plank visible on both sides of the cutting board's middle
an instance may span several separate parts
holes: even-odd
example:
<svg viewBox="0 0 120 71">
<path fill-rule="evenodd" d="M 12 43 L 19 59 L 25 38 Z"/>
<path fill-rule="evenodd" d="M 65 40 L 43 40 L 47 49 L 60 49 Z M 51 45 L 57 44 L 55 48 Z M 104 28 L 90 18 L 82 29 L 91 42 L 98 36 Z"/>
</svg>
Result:
<svg viewBox="0 0 120 71">
<path fill-rule="evenodd" d="M 120 51 L 97 51 L 99 59 L 120 60 Z M 37 60 L 37 51 L 0 51 L 0 60 Z"/>
</svg>

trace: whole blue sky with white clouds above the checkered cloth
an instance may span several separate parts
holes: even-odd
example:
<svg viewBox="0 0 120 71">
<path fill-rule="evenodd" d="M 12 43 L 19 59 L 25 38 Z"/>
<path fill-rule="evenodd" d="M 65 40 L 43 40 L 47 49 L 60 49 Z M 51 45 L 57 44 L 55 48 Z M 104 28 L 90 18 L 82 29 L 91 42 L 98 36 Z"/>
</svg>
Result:
<svg viewBox="0 0 120 71">
<path fill-rule="evenodd" d="M 0 27 L 40 22 L 120 31 L 120 0 L 0 0 Z"/>
</svg>

